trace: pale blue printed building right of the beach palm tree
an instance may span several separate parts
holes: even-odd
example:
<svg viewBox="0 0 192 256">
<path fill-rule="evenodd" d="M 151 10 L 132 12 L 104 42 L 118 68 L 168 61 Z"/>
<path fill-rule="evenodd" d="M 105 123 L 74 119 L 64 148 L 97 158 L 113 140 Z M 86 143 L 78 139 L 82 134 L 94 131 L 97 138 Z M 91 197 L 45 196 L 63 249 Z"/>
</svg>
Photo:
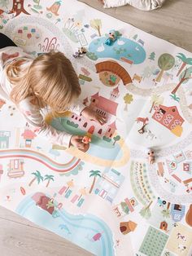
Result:
<svg viewBox="0 0 192 256">
<path fill-rule="evenodd" d="M 95 184 L 94 193 L 112 203 L 123 182 L 124 176 L 120 172 L 114 169 L 107 169 Z"/>
</svg>

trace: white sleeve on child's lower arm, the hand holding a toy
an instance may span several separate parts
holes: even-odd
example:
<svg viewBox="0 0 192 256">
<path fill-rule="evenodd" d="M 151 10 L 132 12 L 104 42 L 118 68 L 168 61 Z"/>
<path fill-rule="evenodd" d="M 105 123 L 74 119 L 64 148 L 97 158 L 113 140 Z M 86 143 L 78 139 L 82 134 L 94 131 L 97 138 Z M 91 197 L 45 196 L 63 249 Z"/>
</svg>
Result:
<svg viewBox="0 0 192 256">
<path fill-rule="evenodd" d="M 37 135 L 48 139 L 50 143 L 59 144 L 69 147 L 72 135 L 64 131 L 56 130 L 54 127 L 48 125 L 41 115 L 40 108 L 30 103 L 30 100 L 24 99 L 19 105 L 20 112 L 23 113 L 30 129 Z"/>
</svg>

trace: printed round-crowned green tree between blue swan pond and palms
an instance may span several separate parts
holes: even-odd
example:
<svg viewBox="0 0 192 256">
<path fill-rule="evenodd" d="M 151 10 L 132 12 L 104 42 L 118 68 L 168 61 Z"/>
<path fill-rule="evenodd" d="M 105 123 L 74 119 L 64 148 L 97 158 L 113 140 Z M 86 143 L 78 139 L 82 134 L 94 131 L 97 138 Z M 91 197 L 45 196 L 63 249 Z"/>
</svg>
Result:
<svg viewBox="0 0 192 256">
<path fill-rule="evenodd" d="M 175 58 L 172 55 L 169 55 L 168 53 L 160 55 L 158 65 L 161 71 L 159 72 L 158 77 L 156 78 L 156 82 L 160 82 L 164 74 L 164 71 L 168 71 L 169 69 L 171 69 L 174 66 L 174 64 Z"/>
</svg>

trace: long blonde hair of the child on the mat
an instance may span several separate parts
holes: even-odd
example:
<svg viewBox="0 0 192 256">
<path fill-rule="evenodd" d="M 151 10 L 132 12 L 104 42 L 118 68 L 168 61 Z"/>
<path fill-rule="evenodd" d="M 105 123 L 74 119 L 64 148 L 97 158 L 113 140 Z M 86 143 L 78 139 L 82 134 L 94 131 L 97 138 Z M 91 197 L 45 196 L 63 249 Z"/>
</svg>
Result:
<svg viewBox="0 0 192 256">
<path fill-rule="evenodd" d="M 81 94 L 72 63 L 62 52 L 50 51 L 39 55 L 29 66 L 24 63 L 26 60 L 18 59 L 6 68 L 15 104 L 34 95 L 41 107 L 49 106 L 52 112 L 62 113 Z"/>
</svg>

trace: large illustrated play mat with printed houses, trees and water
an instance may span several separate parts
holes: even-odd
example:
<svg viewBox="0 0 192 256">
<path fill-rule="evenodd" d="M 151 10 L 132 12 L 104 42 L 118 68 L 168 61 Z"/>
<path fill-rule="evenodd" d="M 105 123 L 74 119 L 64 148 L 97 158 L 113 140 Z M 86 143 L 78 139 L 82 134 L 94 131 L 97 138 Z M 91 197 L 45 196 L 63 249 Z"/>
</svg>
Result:
<svg viewBox="0 0 192 256">
<path fill-rule="evenodd" d="M 1 97 L 0 204 L 98 256 L 191 255 L 192 54 L 75 0 L 0 9 L 0 32 L 34 56 L 63 51 L 82 103 L 107 117 L 46 116 L 92 137 L 81 152 L 38 137 Z"/>
</svg>

